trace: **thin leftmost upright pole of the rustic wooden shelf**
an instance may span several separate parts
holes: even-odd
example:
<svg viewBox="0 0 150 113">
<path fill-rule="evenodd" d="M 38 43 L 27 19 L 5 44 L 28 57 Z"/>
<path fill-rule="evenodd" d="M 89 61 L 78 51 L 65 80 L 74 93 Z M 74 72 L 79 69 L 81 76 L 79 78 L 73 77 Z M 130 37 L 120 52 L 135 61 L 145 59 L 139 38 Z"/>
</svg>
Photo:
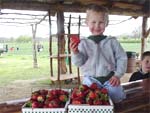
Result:
<svg viewBox="0 0 150 113">
<path fill-rule="evenodd" d="M 48 11 L 49 16 L 49 56 L 52 56 L 52 24 L 51 24 L 51 12 Z M 53 77 L 53 58 L 50 57 L 50 75 Z"/>
</svg>

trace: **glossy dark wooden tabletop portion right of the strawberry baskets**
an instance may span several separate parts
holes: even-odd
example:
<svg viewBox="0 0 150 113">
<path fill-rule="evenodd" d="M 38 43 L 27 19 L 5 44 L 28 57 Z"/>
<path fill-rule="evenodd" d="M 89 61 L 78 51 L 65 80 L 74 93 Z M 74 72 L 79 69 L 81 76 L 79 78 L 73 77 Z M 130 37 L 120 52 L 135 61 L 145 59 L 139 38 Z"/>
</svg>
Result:
<svg viewBox="0 0 150 113">
<path fill-rule="evenodd" d="M 127 98 L 114 105 L 115 113 L 150 113 L 150 79 L 123 84 Z"/>
</svg>

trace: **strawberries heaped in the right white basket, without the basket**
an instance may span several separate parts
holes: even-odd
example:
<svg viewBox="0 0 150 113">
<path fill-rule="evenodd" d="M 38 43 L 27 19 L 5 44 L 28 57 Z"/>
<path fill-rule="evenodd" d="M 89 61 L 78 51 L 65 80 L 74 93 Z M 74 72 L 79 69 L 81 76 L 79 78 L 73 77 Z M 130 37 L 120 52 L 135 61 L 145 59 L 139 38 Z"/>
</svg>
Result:
<svg viewBox="0 0 150 113">
<path fill-rule="evenodd" d="M 72 90 L 71 104 L 110 105 L 108 90 L 99 88 L 96 83 L 93 83 L 90 87 L 80 85 Z"/>
</svg>

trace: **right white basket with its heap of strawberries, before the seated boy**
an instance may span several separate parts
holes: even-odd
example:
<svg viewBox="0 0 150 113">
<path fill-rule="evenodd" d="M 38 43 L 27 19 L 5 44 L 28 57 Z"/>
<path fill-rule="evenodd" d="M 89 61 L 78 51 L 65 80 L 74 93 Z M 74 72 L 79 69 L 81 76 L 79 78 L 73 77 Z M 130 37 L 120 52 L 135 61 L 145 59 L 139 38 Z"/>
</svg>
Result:
<svg viewBox="0 0 150 113">
<path fill-rule="evenodd" d="M 68 113 L 113 113 L 113 102 L 108 96 L 108 90 L 99 88 L 96 83 L 75 87 L 69 101 Z"/>
</svg>

